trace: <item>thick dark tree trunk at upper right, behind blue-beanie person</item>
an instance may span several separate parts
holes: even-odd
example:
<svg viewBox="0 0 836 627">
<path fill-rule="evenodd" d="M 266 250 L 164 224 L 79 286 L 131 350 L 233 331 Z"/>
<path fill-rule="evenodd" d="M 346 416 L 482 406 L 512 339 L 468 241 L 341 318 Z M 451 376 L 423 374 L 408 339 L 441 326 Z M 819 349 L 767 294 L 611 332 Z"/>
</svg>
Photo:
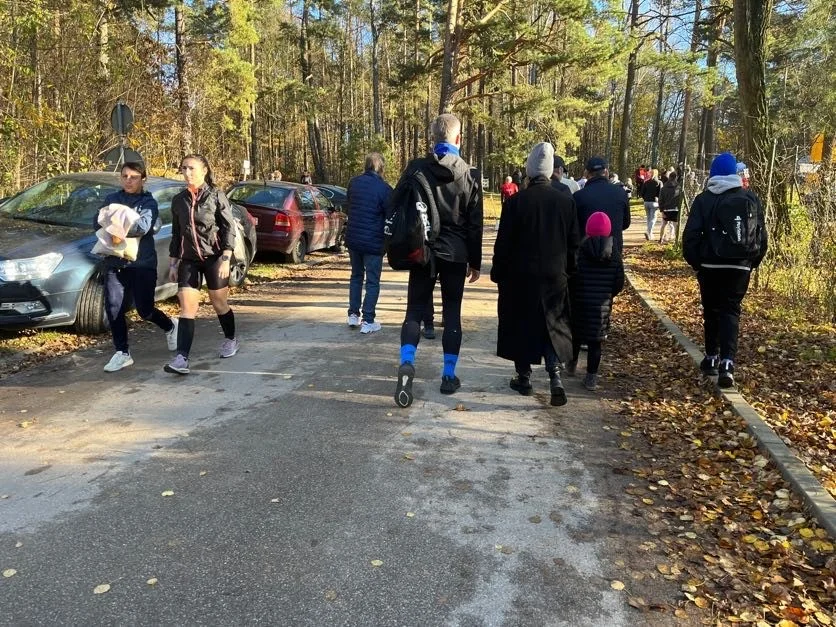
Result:
<svg viewBox="0 0 836 627">
<path fill-rule="evenodd" d="M 767 178 L 772 153 L 772 127 L 766 93 L 766 44 L 774 0 L 734 0 L 734 58 L 745 156 L 752 189 L 773 205 L 775 234 L 789 232 L 786 202 L 768 199 Z M 772 201 L 770 203 L 770 201 Z"/>
</svg>

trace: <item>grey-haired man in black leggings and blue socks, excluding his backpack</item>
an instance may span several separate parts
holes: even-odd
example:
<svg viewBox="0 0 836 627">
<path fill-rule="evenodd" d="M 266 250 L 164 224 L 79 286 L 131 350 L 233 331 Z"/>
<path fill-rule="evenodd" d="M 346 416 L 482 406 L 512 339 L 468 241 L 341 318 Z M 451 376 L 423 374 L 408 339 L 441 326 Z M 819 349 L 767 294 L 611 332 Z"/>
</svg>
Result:
<svg viewBox="0 0 836 627">
<path fill-rule="evenodd" d="M 432 243 L 433 261 L 409 271 L 395 387 L 395 403 L 400 407 L 409 407 L 414 399 L 415 352 L 421 337 L 421 321 L 427 313 L 427 303 L 437 280 L 441 281 L 444 316 L 444 367 L 440 391 L 453 394 L 461 387 L 456 364 L 462 343 L 464 282 L 468 277 L 471 283 L 477 281 L 482 264 L 482 177 L 459 156 L 461 122 L 456 116 L 443 113 L 433 122 L 432 134 L 435 141 L 432 154 L 413 159 L 406 167 L 406 173 L 418 169 L 426 172 L 432 181 L 440 231 Z"/>
</svg>

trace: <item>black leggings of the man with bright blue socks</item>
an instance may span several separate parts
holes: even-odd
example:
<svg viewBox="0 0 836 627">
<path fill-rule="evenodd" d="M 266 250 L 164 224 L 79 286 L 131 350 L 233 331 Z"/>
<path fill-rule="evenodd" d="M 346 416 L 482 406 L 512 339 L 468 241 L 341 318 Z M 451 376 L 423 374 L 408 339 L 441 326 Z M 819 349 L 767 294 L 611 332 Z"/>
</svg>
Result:
<svg viewBox="0 0 836 627">
<path fill-rule="evenodd" d="M 406 318 L 401 327 L 401 345 L 418 346 L 421 337 L 421 321 L 425 320 L 428 303 L 431 303 L 436 279 L 441 281 L 441 310 L 444 317 L 444 334 L 441 345 L 446 355 L 458 355 L 462 345 L 462 296 L 467 264 L 435 260 L 436 275 L 430 266 L 409 271 L 409 288 L 406 297 Z"/>
</svg>

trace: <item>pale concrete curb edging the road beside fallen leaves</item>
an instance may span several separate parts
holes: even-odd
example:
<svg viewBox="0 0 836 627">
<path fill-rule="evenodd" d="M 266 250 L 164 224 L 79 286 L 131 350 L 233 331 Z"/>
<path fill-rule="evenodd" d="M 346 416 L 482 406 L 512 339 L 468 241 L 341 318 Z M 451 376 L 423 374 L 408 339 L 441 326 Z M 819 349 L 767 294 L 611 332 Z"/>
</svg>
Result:
<svg viewBox="0 0 836 627">
<path fill-rule="evenodd" d="M 626 276 L 645 307 L 658 318 L 662 326 L 685 349 L 694 363 L 699 366 L 703 358 L 703 353 L 699 347 L 676 326 L 673 320 L 653 300 L 641 279 L 633 276 L 629 269 Z M 775 462 L 781 475 L 792 486 L 793 491 L 801 496 L 819 524 L 827 530 L 832 538 L 836 538 L 836 499 L 824 489 L 807 466 L 793 455 L 784 441 L 743 398 L 740 392 L 736 390 L 726 391 L 720 388 L 717 388 L 717 390 L 731 404 L 732 411 L 743 419 L 749 433 L 757 440 L 760 449 Z"/>
</svg>

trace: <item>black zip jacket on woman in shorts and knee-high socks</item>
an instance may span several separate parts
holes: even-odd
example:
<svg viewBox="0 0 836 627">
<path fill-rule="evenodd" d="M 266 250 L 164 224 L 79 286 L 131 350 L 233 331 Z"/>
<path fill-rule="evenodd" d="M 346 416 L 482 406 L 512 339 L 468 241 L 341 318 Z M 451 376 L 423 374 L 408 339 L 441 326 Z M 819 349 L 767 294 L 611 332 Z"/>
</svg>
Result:
<svg viewBox="0 0 836 627">
<path fill-rule="evenodd" d="M 176 259 L 203 261 L 235 248 L 235 218 L 220 189 L 204 183 L 193 194 L 187 187 L 171 200 L 171 244 Z"/>
</svg>

